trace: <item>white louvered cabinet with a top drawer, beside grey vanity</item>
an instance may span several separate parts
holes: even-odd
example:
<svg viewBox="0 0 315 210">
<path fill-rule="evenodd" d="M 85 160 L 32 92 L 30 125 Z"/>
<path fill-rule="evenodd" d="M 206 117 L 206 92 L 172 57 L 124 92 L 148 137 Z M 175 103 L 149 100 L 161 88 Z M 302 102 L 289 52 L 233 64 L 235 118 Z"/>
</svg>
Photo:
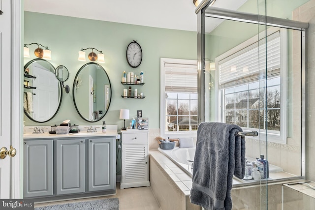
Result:
<svg viewBox="0 0 315 210">
<path fill-rule="evenodd" d="M 120 188 L 150 186 L 148 130 L 122 131 Z"/>
</svg>

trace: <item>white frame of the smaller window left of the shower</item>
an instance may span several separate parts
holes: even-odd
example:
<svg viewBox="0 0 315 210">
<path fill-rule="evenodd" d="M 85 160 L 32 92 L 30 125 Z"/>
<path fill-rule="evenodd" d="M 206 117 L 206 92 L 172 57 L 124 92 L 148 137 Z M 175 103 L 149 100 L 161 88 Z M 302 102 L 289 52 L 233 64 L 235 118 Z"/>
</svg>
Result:
<svg viewBox="0 0 315 210">
<path fill-rule="evenodd" d="M 170 59 L 160 58 L 160 136 L 163 138 L 180 138 L 180 137 L 197 137 L 197 131 L 172 131 L 165 130 L 166 121 L 166 99 L 165 99 L 165 63 L 172 63 L 178 65 L 195 65 L 197 70 L 197 60 L 186 59 Z M 197 81 L 196 81 L 197 82 Z M 197 92 L 196 92 L 197 93 Z M 190 99 L 189 99 L 190 100 Z"/>
</svg>

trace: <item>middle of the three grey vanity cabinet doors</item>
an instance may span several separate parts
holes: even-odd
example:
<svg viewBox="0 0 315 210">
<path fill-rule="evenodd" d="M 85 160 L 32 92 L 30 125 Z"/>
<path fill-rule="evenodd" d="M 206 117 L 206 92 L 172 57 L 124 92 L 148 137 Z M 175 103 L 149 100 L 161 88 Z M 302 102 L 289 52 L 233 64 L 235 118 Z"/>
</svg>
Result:
<svg viewBox="0 0 315 210">
<path fill-rule="evenodd" d="M 57 194 L 84 192 L 84 139 L 56 141 Z"/>
</svg>

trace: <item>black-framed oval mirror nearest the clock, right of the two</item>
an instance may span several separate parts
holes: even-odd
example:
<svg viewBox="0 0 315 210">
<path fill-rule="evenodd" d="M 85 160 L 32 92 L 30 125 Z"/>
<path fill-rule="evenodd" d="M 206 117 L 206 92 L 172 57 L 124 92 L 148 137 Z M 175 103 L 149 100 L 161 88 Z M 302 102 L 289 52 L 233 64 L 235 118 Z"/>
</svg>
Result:
<svg viewBox="0 0 315 210">
<path fill-rule="evenodd" d="M 73 82 L 74 106 L 83 120 L 96 122 L 108 111 L 112 89 L 105 69 L 97 63 L 83 65 Z"/>
</svg>

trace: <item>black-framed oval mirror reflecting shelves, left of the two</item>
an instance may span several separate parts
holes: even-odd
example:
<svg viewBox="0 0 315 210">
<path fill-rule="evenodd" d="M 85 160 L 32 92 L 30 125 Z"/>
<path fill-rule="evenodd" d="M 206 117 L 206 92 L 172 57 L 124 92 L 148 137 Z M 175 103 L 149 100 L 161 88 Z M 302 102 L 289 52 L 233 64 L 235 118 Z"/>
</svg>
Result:
<svg viewBox="0 0 315 210">
<path fill-rule="evenodd" d="M 24 113 L 34 122 L 54 118 L 63 98 L 62 83 L 55 77 L 55 67 L 43 59 L 24 66 Z"/>
</svg>

